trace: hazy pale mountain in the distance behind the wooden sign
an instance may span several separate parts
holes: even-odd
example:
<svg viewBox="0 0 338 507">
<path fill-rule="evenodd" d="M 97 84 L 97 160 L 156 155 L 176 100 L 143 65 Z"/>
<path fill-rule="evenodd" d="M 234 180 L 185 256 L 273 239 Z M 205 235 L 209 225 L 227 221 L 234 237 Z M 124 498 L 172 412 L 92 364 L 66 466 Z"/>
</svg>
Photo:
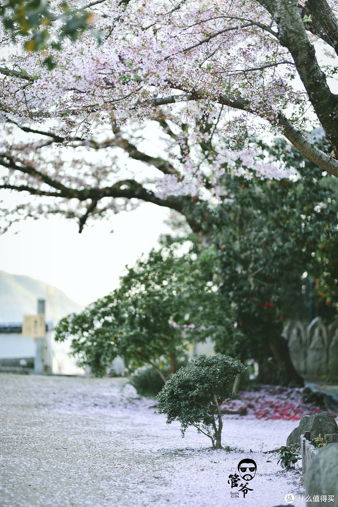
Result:
<svg viewBox="0 0 338 507">
<path fill-rule="evenodd" d="M 59 288 L 30 276 L 0 271 L 0 322 L 22 322 L 22 315 L 35 314 L 37 299 L 46 300 L 46 322 L 56 324 L 84 305 L 75 303 Z"/>
</svg>

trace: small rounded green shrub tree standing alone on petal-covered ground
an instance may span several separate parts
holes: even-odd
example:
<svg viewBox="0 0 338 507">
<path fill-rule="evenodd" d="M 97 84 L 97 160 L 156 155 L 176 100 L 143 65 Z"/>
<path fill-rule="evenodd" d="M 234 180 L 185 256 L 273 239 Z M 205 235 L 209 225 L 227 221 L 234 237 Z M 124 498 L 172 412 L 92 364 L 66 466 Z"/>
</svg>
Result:
<svg viewBox="0 0 338 507">
<path fill-rule="evenodd" d="M 195 426 L 211 439 L 214 449 L 221 449 L 219 404 L 234 397 L 234 379 L 245 369 L 239 360 L 226 355 L 199 355 L 171 375 L 158 394 L 158 412 L 167 414 L 167 424 L 181 423 L 182 437 L 187 427 Z"/>
</svg>

